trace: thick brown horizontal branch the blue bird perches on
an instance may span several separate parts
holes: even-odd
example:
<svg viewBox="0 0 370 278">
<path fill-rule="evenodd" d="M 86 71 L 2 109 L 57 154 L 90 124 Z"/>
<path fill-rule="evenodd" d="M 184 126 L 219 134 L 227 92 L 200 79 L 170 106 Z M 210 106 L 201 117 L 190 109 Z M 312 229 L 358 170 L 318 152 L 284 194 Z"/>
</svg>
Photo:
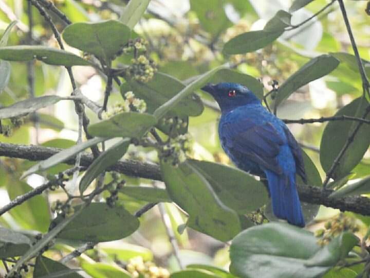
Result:
<svg viewBox="0 0 370 278">
<path fill-rule="evenodd" d="M 58 151 L 60 151 L 60 149 L 0 143 L 0 157 L 4 156 L 40 161 L 51 157 L 51 155 Z M 93 155 L 84 153 L 81 155 L 81 166 L 87 167 L 93 162 L 93 160 Z M 70 159 L 65 163 L 73 165 L 75 160 Z M 114 170 L 133 177 L 158 181 L 162 180 L 159 166 L 156 164 L 126 160 L 114 164 L 109 167 L 108 170 Z M 312 186 L 298 186 L 298 192 L 301 200 L 307 203 L 323 204 L 339 208 L 341 211 L 351 211 L 362 215 L 370 215 L 370 199 L 366 197 L 353 196 L 338 199 L 328 198 L 333 190 Z"/>
</svg>

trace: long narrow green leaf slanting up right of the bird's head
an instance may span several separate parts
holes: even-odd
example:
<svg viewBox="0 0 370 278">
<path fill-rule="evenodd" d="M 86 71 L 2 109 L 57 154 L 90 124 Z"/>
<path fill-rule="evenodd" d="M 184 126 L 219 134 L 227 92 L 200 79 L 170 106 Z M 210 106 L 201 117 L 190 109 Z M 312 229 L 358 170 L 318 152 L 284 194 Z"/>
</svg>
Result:
<svg viewBox="0 0 370 278">
<path fill-rule="evenodd" d="M 339 61 L 331 55 L 324 54 L 311 59 L 279 87 L 275 105 L 278 106 L 303 85 L 329 74 L 338 65 Z"/>
</svg>

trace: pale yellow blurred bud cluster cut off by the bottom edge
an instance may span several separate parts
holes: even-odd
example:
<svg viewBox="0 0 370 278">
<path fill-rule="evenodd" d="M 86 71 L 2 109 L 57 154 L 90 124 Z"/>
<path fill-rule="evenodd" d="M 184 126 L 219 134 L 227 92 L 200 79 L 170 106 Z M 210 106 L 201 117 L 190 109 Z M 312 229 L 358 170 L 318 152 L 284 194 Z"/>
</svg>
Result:
<svg viewBox="0 0 370 278">
<path fill-rule="evenodd" d="M 126 269 L 133 277 L 143 278 L 169 278 L 170 272 L 162 267 L 156 266 L 153 262 L 145 262 L 142 257 L 134 257 L 128 262 Z"/>
</svg>

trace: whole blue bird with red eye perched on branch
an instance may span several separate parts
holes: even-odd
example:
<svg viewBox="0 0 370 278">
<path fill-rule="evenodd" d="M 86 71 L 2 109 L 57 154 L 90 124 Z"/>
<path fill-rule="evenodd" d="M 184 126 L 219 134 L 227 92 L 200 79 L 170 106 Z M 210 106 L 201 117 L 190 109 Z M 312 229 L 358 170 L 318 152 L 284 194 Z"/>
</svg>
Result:
<svg viewBox="0 0 370 278">
<path fill-rule="evenodd" d="M 241 84 L 207 84 L 202 90 L 221 108 L 218 135 L 231 161 L 252 175 L 266 177 L 274 215 L 304 227 L 295 173 L 305 183 L 307 179 L 301 148 L 287 126 Z"/>
</svg>

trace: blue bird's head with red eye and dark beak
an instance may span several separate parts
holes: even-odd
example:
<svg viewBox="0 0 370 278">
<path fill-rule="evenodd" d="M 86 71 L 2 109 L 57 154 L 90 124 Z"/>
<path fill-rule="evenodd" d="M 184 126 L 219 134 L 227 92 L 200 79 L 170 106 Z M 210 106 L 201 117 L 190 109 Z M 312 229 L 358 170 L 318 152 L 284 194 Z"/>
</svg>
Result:
<svg viewBox="0 0 370 278">
<path fill-rule="evenodd" d="M 239 106 L 261 103 L 261 100 L 258 99 L 247 87 L 238 83 L 208 83 L 201 89 L 213 96 L 213 98 L 218 102 L 222 112 L 230 111 Z"/>
</svg>

